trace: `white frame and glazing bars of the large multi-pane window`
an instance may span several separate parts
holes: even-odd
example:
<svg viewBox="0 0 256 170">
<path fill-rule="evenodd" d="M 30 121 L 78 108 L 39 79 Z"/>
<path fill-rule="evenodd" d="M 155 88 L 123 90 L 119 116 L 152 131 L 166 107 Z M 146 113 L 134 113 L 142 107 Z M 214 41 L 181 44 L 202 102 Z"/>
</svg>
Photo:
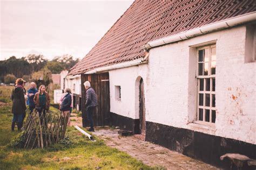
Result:
<svg viewBox="0 0 256 170">
<path fill-rule="evenodd" d="M 216 89 L 215 91 L 212 91 L 212 80 L 213 78 L 215 79 L 215 84 L 216 84 L 216 70 L 215 70 L 215 74 L 214 75 L 211 75 L 211 58 L 212 58 L 212 51 L 211 51 L 211 48 L 216 48 L 216 45 L 215 44 L 211 44 L 211 45 L 206 45 L 206 46 L 201 46 L 201 47 L 198 47 L 197 48 L 197 72 L 196 72 L 196 78 L 197 78 L 197 93 L 196 93 L 196 121 L 194 121 L 194 123 L 197 123 L 197 124 L 203 124 L 203 125 L 208 125 L 208 126 L 215 126 L 215 123 L 212 123 L 212 110 L 215 110 L 215 118 L 216 118 L 216 105 L 215 107 L 212 107 L 212 95 L 216 94 Z M 198 72 L 199 72 L 199 51 L 201 49 L 206 49 L 206 48 L 209 48 L 209 59 L 208 59 L 208 75 L 198 75 Z M 215 59 L 215 62 L 216 62 L 216 59 Z M 204 63 L 204 61 L 203 61 Z M 203 65 L 203 73 L 204 73 L 204 65 Z M 199 80 L 203 79 L 204 80 L 204 90 L 203 91 L 200 91 L 200 82 Z M 210 91 L 206 91 L 206 79 L 210 79 Z M 215 86 L 216 87 L 216 86 Z M 199 94 L 203 94 L 204 97 L 203 97 L 203 106 L 199 105 Z M 205 95 L 206 94 L 210 94 L 210 107 L 207 107 L 205 106 Z M 216 95 L 215 95 L 215 101 L 216 101 Z M 203 109 L 203 121 L 199 121 L 199 109 Z M 210 121 L 209 122 L 206 122 L 205 121 L 205 109 L 208 109 L 210 110 Z"/>
</svg>

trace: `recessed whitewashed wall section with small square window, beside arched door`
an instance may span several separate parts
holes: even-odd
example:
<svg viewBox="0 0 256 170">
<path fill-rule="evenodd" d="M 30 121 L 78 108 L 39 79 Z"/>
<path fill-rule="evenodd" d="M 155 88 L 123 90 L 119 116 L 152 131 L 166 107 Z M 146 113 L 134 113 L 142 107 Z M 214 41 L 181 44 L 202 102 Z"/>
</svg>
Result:
<svg viewBox="0 0 256 170">
<path fill-rule="evenodd" d="M 110 111 L 130 117 L 139 118 L 139 80 L 144 80 L 146 88 L 147 65 L 133 66 L 111 70 L 110 79 Z M 115 97 L 115 86 L 121 87 L 121 99 Z"/>
</svg>

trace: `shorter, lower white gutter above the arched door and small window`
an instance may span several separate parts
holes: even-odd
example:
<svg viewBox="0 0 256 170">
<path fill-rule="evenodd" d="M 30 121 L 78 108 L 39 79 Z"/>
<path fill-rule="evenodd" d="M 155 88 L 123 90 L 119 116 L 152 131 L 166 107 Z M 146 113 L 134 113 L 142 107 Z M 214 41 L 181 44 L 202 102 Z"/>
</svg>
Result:
<svg viewBox="0 0 256 170">
<path fill-rule="evenodd" d="M 111 66 L 95 68 L 93 70 L 85 72 L 84 74 L 94 74 L 94 73 L 106 72 L 106 71 L 113 70 L 113 69 L 118 69 L 118 68 L 125 68 L 125 67 L 141 65 L 143 63 L 147 63 L 147 57 L 148 56 L 149 56 L 149 53 L 146 52 L 145 57 L 142 58 L 142 59 L 137 59 L 137 60 L 133 60 L 133 61 L 117 63 L 117 64 L 114 64 L 114 65 L 111 65 Z"/>
</svg>

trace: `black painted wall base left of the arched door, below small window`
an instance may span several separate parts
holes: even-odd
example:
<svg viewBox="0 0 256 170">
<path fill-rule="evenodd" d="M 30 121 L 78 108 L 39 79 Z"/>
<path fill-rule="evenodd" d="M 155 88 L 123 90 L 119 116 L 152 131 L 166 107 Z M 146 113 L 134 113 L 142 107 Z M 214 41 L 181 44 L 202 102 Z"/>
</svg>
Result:
<svg viewBox="0 0 256 170">
<path fill-rule="evenodd" d="M 132 119 L 110 112 L 111 126 L 119 126 L 121 130 L 132 131 L 133 134 L 139 133 L 139 119 Z"/>
</svg>

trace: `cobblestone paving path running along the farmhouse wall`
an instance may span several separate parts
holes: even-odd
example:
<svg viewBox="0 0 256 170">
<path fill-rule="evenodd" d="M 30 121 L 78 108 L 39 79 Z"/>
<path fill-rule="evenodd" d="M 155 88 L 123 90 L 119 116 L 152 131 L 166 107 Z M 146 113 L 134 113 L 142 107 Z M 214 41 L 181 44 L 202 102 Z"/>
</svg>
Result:
<svg viewBox="0 0 256 170">
<path fill-rule="evenodd" d="M 107 146 L 124 151 L 149 166 L 163 166 L 166 169 L 217 169 L 165 147 L 144 141 L 143 136 L 123 137 L 119 136 L 117 131 L 96 129 L 93 134 L 102 138 Z"/>
</svg>

